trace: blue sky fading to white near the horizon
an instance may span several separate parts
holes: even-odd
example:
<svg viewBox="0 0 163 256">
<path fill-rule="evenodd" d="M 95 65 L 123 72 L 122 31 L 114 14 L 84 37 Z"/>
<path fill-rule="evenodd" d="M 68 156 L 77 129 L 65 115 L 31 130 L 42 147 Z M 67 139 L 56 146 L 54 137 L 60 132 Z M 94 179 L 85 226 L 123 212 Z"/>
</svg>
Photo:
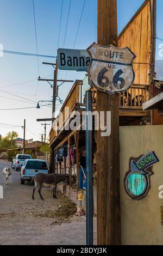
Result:
<svg viewBox="0 0 163 256">
<path fill-rule="evenodd" d="M 37 31 L 37 44 L 39 54 L 56 56 L 58 46 L 59 23 L 61 13 L 61 0 L 35 0 L 35 19 Z M 70 0 L 64 0 L 59 47 L 63 47 Z M 70 16 L 67 25 L 65 48 L 72 48 L 76 37 L 80 14 L 82 12 L 84 0 L 72 0 Z M 143 3 L 143 0 L 117 0 L 118 3 L 118 33 L 134 15 L 135 11 Z M 163 38 L 162 31 L 162 9 L 163 1 L 157 1 L 157 35 Z M 32 0 L 0 0 L 0 44 L 4 50 L 36 53 L 34 15 Z M 82 22 L 75 48 L 85 49 L 93 41 L 97 41 L 97 1 L 86 0 Z M 158 57 L 158 44 L 156 45 L 156 59 Z M 161 58 L 160 58 L 161 59 Z M 52 67 L 42 65 L 42 62 L 52 62 L 54 60 L 39 58 L 40 76 L 53 78 Z M 0 90 L 14 93 L 15 95 L 27 99 L 51 100 L 52 89 L 46 82 L 33 81 L 23 83 L 18 86 L 9 86 L 15 83 L 22 83 L 36 80 L 39 76 L 37 68 L 37 58 L 28 56 L 18 56 L 4 54 L 0 57 Z M 59 78 L 69 80 L 82 79 L 83 72 L 60 71 Z M 59 96 L 65 99 L 72 83 L 65 83 L 60 87 Z M 10 99 L 6 99 L 8 97 Z M 23 102 L 16 101 L 22 100 Z M 35 106 L 34 102 L 15 97 L 0 91 L 0 109 L 21 108 Z M 33 103 L 33 104 L 32 104 Z M 59 106 L 57 106 L 59 110 Z M 41 109 L 24 109 L 13 111 L 0 110 L 0 123 L 23 125 L 23 119 L 27 123 L 27 139 L 39 139 L 39 133 L 43 132 L 41 124 L 36 123 L 36 118 L 51 117 L 52 109 L 42 107 Z M 0 125 L 0 134 L 3 136 L 10 130 L 18 131 L 20 137 L 23 136 L 22 128 Z"/>
</svg>

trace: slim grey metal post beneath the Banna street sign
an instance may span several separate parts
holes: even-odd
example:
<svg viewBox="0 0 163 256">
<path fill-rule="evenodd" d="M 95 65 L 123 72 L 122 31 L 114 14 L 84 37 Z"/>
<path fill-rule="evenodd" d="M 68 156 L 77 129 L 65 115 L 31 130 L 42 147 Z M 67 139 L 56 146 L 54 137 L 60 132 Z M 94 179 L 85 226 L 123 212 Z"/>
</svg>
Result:
<svg viewBox="0 0 163 256">
<path fill-rule="evenodd" d="M 86 245 L 93 245 L 92 93 L 86 91 Z"/>
</svg>

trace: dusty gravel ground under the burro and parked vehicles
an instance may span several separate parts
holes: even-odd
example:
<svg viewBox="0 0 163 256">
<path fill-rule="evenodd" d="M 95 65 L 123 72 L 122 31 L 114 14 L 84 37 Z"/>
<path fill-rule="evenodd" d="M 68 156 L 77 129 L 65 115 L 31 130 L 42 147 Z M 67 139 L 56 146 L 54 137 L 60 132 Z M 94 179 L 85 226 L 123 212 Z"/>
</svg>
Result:
<svg viewBox="0 0 163 256">
<path fill-rule="evenodd" d="M 21 185 L 15 170 L 5 185 L 2 169 L 9 165 L 0 160 L 0 245 L 85 245 L 86 219 L 74 215 L 76 205 L 61 195 L 53 199 L 48 188 L 42 188 L 43 201 L 37 191 L 32 200 L 33 186 Z"/>
</svg>

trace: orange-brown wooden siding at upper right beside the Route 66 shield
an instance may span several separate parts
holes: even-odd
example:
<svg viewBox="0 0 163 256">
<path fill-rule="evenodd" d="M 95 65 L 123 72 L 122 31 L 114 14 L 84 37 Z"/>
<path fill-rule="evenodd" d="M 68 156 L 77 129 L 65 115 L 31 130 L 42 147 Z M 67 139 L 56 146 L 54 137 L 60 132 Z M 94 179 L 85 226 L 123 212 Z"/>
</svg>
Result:
<svg viewBox="0 0 163 256">
<path fill-rule="evenodd" d="M 151 8 L 146 1 L 141 9 L 118 36 L 118 47 L 129 47 L 136 55 L 133 64 L 135 72 L 134 84 L 149 85 L 151 61 Z M 147 64 L 143 64 L 147 63 Z"/>
</svg>

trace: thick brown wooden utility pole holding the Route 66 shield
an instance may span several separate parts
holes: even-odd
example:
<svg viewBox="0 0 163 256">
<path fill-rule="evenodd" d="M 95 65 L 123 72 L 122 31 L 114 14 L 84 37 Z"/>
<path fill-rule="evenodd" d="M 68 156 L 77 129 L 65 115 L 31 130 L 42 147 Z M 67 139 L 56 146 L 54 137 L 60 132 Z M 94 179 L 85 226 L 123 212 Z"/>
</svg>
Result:
<svg viewBox="0 0 163 256">
<path fill-rule="evenodd" d="M 98 0 L 98 44 L 117 46 L 117 1 Z M 111 111 L 111 135 L 97 131 L 97 234 L 98 245 L 120 245 L 119 94 L 97 90 L 97 109 Z"/>
</svg>

